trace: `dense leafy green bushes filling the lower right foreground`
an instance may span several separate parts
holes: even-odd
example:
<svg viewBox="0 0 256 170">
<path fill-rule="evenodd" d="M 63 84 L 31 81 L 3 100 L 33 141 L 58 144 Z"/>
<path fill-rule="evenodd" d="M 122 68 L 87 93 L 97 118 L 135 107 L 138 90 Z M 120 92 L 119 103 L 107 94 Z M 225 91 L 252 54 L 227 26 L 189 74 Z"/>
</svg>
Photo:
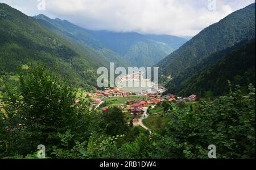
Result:
<svg viewBox="0 0 256 170">
<path fill-rule="evenodd" d="M 156 136 L 154 157 L 207 158 L 210 144 L 217 158 L 255 157 L 255 89 L 249 85 L 248 96 L 240 89 L 198 110 L 171 111 L 167 134 Z"/>
</svg>

